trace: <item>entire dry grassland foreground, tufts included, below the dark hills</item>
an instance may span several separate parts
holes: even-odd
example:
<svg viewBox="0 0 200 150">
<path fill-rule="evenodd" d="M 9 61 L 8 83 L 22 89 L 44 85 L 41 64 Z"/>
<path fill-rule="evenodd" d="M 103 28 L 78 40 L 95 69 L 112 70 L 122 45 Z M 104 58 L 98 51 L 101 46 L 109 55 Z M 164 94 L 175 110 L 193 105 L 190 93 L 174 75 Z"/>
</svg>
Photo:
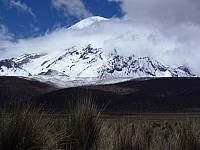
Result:
<svg viewBox="0 0 200 150">
<path fill-rule="evenodd" d="M 65 114 L 47 114 L 42 107 L 17 103 L 2 110 L 0 149 L 200 149 L 200 120 L 185 114 L 177 119 L 176 114 L 162 115 L 104 114 L 91 99 L 72 104 Z"/>
</svg>

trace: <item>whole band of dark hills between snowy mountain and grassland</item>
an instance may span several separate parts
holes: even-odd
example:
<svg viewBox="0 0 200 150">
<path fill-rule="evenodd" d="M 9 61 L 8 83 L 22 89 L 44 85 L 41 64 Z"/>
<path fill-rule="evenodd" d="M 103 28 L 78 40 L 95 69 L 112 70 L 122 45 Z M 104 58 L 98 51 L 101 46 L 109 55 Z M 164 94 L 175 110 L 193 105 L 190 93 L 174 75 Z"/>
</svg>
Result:
<svg viewBox="0 0 200 150">
<path fill-rule="evenodd" d="M 63 111 L 84 97 L 109 112 L 200 111 L 200 78 L 137 79 L 112 85 L 74 87 L 58 90 L 38 81 L 0 77 L 0 105 L 16 100 L 45 104 Z"/>
</svg>

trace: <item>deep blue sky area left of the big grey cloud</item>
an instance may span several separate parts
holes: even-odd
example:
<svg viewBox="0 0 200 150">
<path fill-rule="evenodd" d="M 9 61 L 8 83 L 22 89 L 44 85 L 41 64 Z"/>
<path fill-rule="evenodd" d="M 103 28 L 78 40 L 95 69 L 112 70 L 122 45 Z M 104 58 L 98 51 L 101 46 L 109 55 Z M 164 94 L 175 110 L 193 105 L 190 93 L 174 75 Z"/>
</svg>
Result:
<svg viewBox="0 0 200 150">
<path fill-rule="evenodd" d="M 76 4 L 75 1 L 79 0 L 0 0 L 0 23 L 19 39 L 69 27 L 89 16 L 123 16 L 120 2 L 83 0 Z M 80 13 L 73 7 L 77 7 Z"/>
</svg>

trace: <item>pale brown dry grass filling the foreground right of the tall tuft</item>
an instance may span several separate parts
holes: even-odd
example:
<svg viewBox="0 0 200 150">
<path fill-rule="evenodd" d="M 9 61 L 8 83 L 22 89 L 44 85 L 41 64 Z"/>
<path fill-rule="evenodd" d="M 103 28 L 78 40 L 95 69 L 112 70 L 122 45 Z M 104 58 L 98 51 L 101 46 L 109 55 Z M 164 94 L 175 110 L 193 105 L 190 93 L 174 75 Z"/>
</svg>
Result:
<svg viewBox="0 0 200 150">
<path fill-rule="evenodd" d="M 155 123 L 120 119 L 104 127 L 104 148 L 108 150 L 199 150 L 197 122 Z"/>
</svg>

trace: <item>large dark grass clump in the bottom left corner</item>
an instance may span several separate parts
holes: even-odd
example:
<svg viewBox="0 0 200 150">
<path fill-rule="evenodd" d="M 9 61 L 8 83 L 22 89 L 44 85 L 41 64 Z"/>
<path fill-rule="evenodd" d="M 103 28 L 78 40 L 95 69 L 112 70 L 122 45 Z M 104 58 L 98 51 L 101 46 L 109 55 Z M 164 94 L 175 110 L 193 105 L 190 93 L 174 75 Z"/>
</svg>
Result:
<svg viewBox="0 0 200 150">
<path fill-rule="evenodd" d="M 32 104 L 14 105 L 1 115 L 0 149 L 52 149 L 55 139 L 50 134 L 51 124 Z"/>
</svg>

